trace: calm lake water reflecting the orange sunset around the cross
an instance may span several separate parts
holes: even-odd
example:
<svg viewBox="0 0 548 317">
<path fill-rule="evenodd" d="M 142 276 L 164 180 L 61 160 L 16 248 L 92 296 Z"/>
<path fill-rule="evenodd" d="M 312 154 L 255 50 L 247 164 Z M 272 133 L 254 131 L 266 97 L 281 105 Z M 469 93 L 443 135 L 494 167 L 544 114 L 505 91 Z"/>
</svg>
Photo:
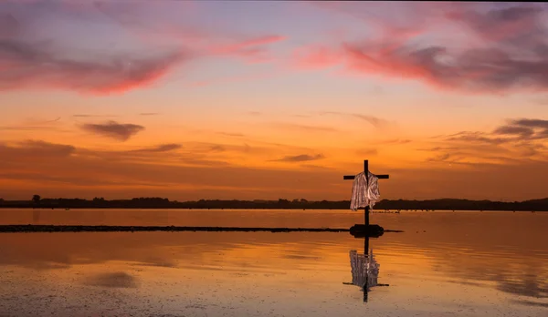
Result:
<svg viewBox="0 0 548 317">
<path fill-rule="evenodd" d="M 362 219 L 346 210 L 0 210 L 3 224 L 347 228 Z M 367 258 L 364 239 L 348 233 L 0 234 L 0 316 L 548 316 L 548 213 L 372 222 L 405 232 L 370 240 Z M 366 302 L 352 284 L 364 276 Z"/>
</svg>

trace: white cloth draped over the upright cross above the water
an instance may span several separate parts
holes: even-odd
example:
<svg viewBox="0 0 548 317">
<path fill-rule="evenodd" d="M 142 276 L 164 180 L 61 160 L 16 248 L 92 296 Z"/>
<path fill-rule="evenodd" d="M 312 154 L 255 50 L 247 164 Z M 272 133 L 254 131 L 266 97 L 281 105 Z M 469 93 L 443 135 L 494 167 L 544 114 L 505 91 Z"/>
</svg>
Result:
<svg viewBox="0 0 548 317">
<path fill-rule="evenodd" d="M 367 173 L 369 175 L 369 184 L 367 184 L 364 172 L 361 172 L 354 178 L 352 199 L 350 200 L 350 209 L 353 211 L 365 206 L 373 209 L 375 202 L 380 199 L 379 179 L 369 170 Z"/>
</svg>

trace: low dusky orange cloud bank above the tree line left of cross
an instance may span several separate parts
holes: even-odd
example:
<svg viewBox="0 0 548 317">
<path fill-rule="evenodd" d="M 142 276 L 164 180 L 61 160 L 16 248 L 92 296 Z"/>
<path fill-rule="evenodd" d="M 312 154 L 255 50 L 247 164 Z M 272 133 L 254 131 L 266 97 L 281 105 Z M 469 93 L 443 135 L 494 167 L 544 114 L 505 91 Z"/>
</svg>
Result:
<svg viewBox="0 0 548 317">
<path fill-rule="evenodd" d="M 56 149 L 55 155 L 45 155 L 44 150 L 30 151 L 20 145 L 0 147 L 3 198 L 26 198 L 28 189 L 42 197 L 255 199 L 272 192 L 320 197 L 331 192 L 329 186 L 311 189 L 313 184 L 333 178 L 323 172 L 249 168 L 238 164 L 238 158 L 226 162 L 196 153 L 192 145 L 168 153 L 76 148 L 67 155 L 62 148 Z"/>
</svg>

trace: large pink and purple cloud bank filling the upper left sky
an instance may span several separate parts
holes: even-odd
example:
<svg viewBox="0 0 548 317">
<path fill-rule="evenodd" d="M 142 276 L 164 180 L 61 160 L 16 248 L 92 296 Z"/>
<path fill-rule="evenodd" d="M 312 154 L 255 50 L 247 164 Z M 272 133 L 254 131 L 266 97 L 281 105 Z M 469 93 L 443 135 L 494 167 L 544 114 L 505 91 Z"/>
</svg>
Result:
<svg viewBox="0 0 548 317">
<path fill-rule="evenodd" d="M 166 12 L 171 5 L 178 15 Z M 176 67 L 202 57 L 270 60 L 268 46 L 285 39 L 192 26 L 184 22 L 184 15 L 193 15 L 187 7 L 148 2 L 7 4 L 0 11 L 0 91 L 37 88 L 121 94 L 151 87 Z M 59 31 L 58 26 L 71 32 Z M 47 37 L 44 30 L 55 36 Z M 90 36 L 97 33 L 109 36 Z"/>
</svg>

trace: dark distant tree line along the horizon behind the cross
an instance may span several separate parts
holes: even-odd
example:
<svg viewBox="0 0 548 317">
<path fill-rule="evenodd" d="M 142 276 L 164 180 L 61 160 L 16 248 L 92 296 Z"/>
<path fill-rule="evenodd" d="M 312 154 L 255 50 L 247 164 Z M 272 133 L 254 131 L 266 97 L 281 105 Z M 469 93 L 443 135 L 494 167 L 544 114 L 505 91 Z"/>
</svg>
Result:
<svg viewBox="0 0 548 317">
<path fill-rule="evenodd" d="M 309 201 L 306 199 L 278 200 L 220 200 L 172 201 L 159 197 L 134 199 L 42 199 L 34 195 L 31 200 L 0 199 L 0 208 L 110 208 L 110 209 L 287 209 L 287 210 L 348 210 L 349 200 Z M 547 199 L 532 199 L 514 202 L 469 199 L 390 200 L 383 199 L 374 210 L 515 210 L 548 211 Z"/>
</svg>

